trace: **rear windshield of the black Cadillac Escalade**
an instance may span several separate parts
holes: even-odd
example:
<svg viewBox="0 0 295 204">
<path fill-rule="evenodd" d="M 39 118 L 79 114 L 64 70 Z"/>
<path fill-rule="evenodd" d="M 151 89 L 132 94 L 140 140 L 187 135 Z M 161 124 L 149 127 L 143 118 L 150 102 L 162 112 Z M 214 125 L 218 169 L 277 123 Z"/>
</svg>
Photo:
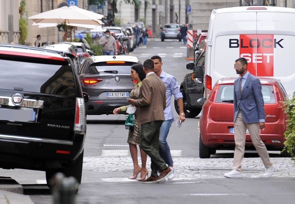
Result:
<svg viewBox="0 0 295 204">
<path fill-rule="evenodd" d="M 19 59 L 18 59 L 19 60 Z M 72 68 L 65 62 L 44 63 L 0 58 L 0 89 L 22 89 L 27 92 L 75 97 Z"/>
</svg>

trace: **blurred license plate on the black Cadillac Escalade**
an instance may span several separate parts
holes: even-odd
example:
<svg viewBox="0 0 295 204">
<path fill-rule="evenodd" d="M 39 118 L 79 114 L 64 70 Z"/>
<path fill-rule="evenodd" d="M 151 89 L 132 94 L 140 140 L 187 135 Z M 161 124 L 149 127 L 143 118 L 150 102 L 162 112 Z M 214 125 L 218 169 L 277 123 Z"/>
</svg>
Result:
<svg viewBox="0 0 295 204">
<path fill-rule="evenodd" d="M 0 108 L 0 120 L 36 122 L 36 112 L 31 108 L 6 109 Z"/>
</svg>

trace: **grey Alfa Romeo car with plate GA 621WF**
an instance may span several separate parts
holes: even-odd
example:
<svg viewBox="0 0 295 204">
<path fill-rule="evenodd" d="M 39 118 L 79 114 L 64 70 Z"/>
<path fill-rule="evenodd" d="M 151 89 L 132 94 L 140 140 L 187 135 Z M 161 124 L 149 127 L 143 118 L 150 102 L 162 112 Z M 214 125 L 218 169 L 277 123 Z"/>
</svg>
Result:
<svg viewBox="0 0 295 204">
<path fill-rule="evenodd" d="M 128 105 L 133 89 L 131 66 L 140 61 L 134 56 L 94 56 L 87 58 L 78 74 L 87 115 L 112 114 Z"/>
</svg>

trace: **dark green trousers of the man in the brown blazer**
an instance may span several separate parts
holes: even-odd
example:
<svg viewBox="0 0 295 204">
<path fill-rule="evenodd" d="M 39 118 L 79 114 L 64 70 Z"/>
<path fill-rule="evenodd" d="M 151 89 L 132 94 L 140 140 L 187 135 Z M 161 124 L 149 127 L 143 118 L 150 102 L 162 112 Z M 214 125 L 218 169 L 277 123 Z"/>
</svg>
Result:
<svg viewBox="0 0 295 204">
<path fill-rule="evenodd" d="M 158 169 L 167 169 L 165 161 L 159 154 L 159 135 L 163 121 L 152 121 L 141 124 L 140 148 L 151 158 L 151 176 L 157 177 Z"/>
</svg>

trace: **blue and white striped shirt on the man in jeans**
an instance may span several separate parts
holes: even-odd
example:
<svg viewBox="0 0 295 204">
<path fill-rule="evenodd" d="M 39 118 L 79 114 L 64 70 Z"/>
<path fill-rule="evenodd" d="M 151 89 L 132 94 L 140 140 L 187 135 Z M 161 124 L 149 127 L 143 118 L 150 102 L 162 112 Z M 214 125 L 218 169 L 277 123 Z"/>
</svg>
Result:
<svg viewBox="0 0 295 204">
<path fill-rule="evenodd" d="M 179 90 L 178 83 L 174 76 L 167 74 L 162 70 L 160 79 L 164 82 L 166 86 L 166 108 L 164 110 L 165 120 L 174 119 L 171 106 L 172 94 L 174 95 L 174 98 L 176 100 L 178 100 L 179 98 L 183 98 L 183 95 Z"/>
</svg>

